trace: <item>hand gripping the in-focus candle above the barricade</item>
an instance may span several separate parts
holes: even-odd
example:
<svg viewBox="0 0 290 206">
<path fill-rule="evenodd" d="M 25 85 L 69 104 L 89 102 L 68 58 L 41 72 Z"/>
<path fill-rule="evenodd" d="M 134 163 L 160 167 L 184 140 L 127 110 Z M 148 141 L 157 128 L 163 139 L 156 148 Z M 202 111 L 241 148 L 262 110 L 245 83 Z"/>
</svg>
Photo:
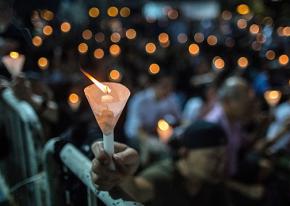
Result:
<svg viewBox="0 0 290 206">
<path fill-rule="evenodd" d="M 125 144 L 115 143 L 115 154 L 110 157 L 105 151 L 102 142 L 92 145 L 95 158 L 92 161 L 92 180 L 100 190 L 111 190 L 118 186 L 127 177 L 133 175 L 139 165 L 139 156 L 136 150 Z M 116 170 L 110 169 L 111 161 Z"/>
</svg>

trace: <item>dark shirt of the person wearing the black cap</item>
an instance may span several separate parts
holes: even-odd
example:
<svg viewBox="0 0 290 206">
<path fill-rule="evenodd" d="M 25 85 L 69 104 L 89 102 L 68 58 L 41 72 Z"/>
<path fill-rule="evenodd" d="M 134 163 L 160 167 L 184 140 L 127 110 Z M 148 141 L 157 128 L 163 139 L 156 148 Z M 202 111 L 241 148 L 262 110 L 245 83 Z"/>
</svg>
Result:
<svg viewBox="0 0 290 206">
<path fill-rule="evenodd" d="M 222 184 L 205 183 L 197 194 L 189 194 L 185 187 L 186 180 L 177 171 L 174 162 L 170 159 L 151 166 L 140 176 L 153 183 L 155 190 L 154 199 L 145 205 L 229 205 L 227 191 Z"/>
</svg>

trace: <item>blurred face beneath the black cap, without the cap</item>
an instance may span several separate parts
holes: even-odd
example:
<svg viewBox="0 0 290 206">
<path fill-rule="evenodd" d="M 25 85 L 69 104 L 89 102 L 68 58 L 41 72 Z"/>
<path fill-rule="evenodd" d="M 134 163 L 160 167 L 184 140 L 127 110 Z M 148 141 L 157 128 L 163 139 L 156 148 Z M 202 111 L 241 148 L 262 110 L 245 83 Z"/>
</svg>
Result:
<svg viewBox="0 0 290 206">
<path fill-rule="evenodd" d="M 185 157 L 188 178 L 199 178 L 208 182 L 219 182 L 224 175 L 226 149 L 219 146 L 189 150 Z"/>
</svg>

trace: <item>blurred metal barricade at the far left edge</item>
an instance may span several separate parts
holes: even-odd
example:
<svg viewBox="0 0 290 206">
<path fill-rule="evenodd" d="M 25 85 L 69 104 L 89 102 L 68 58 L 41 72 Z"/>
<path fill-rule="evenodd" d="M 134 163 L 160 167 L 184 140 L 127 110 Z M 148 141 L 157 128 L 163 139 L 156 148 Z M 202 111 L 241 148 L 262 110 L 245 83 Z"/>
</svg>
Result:
<svg viewBox="0 0 290 206">
<path fill-rule="evenodd" d="M 18 100 L 9 88 L 0 96 L 0 116 L 9 141 L 9 153 L 0 162 L 0 172 L 15 194 L 16 204 L 41 206 L 42 175 L 35 142 L 42 131 L 39 119 L 33 108 Z"/>
</svg>

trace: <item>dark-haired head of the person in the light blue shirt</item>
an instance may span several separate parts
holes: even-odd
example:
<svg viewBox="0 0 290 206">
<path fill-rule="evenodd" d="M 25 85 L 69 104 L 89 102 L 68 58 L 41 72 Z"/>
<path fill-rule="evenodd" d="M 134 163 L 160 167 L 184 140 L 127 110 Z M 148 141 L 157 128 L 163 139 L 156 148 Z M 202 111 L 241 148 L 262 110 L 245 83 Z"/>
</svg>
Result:
<svg viewBox="0 0 290 206">
<path fill-rule="evenodd" d="M 158 74 L 151 78 L 156 99 L 164 99 L 170 95 L 174 87 L 174 78 L 170 74 Z"/>
</svg>

